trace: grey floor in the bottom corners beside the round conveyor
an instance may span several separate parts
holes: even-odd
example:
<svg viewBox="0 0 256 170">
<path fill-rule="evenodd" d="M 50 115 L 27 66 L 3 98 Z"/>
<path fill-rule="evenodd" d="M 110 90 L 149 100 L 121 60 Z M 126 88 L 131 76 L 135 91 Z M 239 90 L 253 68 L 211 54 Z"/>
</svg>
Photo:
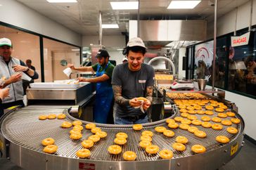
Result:
<svg viewBox="0 0 256 170">
<path fill-rule="evenodd" d="M 225 166 L 219 170 L 255 170 L 256 169 L 256 145 L 244 139 L 245 143 L 241 151 Z M 7 159 L 0 158 L 0 170 L 25 170 Z M 29 169 L 27 169 L 29 170 Z"/>
</svg>

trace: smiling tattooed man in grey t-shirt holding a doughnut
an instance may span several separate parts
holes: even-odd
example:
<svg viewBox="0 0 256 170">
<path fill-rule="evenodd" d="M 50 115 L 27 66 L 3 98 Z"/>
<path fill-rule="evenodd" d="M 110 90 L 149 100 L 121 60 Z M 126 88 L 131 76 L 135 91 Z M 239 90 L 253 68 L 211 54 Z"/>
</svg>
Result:
<svg viewBox="0 0 256 170">
<path fill-rule="evenodd" d="M 130 39 L 123 50 L 128 62 L 117 65 L 112 85 L 115 96 L 115 124 L 143 124 L 148 122 L 146 110 L 151 106 L 155 72 L 143 63 L 146 46 L 142 39 Z M 143 102 L 139 97 L 146 98 Z"/>
</svg>

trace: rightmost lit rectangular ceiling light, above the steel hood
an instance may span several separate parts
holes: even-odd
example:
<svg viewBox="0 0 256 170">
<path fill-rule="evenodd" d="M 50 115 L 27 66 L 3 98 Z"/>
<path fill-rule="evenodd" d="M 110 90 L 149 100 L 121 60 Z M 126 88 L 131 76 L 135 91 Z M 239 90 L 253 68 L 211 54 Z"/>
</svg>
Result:
<svg viewBox="0 0 256 170">
<path fill-rule="evenodd" d="M 199 3 L 200 1 L 171 1 L 167 9 L 192 9 Z"/>
</svg>

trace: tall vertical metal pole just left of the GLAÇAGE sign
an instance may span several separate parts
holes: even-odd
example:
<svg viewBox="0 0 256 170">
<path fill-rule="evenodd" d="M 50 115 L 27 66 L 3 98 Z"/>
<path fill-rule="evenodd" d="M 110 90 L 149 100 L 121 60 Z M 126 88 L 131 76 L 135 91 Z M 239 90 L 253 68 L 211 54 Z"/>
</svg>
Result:
<svg viewBox="0 0 256 170">
<path fill-rule="evenodd" d="M 217 4 L 218 0 L 215 0 L 215 26 L 213 36 L 213 62 L 212 62 L 212 91 L 215 89 L 215 59 L 216 59 L 216 36 L 217 36 Z"/>
</svg>

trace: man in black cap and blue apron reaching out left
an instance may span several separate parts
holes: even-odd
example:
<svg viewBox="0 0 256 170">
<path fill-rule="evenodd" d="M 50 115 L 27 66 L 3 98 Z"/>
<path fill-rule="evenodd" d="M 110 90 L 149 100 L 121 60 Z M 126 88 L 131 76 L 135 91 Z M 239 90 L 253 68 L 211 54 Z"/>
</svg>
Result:
<svg viewBox="0 0 256 170">
<path fill-rule="evenodd" d="M 74 67 L 72 64 L 68 64 L 68 67 L 79 72 L 96 72 L 95 78 L 78 77 L 77 79 L 79 81 L 96 83 L 94 122 L 106 124 L 108 122 L 109 112 L 113 107 L 111 78 L 115 66 L 109 62 L 110 55 L 106 50 L 100 49 L 96 58 L 98 63 L 89 67 Z"/>
</svg>

